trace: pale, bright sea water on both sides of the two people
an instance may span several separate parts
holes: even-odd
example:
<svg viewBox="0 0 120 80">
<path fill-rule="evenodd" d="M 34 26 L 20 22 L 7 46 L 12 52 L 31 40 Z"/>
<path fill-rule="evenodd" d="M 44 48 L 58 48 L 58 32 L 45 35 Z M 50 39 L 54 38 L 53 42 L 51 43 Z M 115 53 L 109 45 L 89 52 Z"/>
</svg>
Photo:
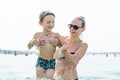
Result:
<svg viewBox="0 0 120 80">
<path fill-rule="evenodd" d="M 0 54 L 0 80 L 35 80 L 37 55 Z M 120 56 L 85 55 L 77 66 L 79 80 L 120 80 Z"/>
</svg>

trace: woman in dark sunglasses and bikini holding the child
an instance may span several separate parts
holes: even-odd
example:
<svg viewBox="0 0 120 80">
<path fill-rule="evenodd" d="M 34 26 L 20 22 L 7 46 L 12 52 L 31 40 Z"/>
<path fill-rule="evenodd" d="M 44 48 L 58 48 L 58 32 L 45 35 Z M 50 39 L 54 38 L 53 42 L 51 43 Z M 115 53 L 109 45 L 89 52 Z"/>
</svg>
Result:
<svg viewBox="0 0 120 80">
<path fill-rule="evenodd" d="M 65 44 L 54 55 L 57 59 L 56 80 L 78 80 L 76 67 L 88 48 L 87 43 L 79 37 L 85 31 L 84 18 L 76 17 L 68 26 L 70 36 L 65 37 Z"/>
</svg>

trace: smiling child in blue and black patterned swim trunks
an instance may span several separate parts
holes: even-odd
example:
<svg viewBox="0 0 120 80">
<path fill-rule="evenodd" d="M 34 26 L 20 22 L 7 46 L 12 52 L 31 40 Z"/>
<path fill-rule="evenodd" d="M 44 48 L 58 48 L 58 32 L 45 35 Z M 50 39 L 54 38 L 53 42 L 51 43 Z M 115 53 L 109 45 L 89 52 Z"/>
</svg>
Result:
<svg viewBox="0 0 120 80">
<path fill-rule="evenodd" d="M 43 11 L 39 16 L 39 24 L 42 26 L 42 32 L 36 32 L 33 39 L 28 43 L 28 48 L 31 49 L 34 45 L 39 50 L 39 55 L 36 63 L 37 79 L 53 79 L 55 70 L 55 59 L 53 55 L 56 51 L 56 46 L 61 46 L 60 35 L 52 32 L 54 28 L 55 15 L 50 11 Z"/>
</svg>

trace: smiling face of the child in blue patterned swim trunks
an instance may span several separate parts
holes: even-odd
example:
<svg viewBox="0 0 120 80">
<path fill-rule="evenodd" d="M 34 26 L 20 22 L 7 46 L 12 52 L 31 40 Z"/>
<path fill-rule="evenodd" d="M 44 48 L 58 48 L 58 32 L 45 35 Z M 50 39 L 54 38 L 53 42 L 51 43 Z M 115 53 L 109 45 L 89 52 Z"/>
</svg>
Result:
<svg viewBox="0 0 120 80">
<path fill-rule="evenodd" d="M 54 28 L 55 17 L 53 15 L 47 15 L 43 19 L 43 22 L 40 22 L 40 25 L 43 26 L 43 30 L 50 32 Z"/>
</svg>

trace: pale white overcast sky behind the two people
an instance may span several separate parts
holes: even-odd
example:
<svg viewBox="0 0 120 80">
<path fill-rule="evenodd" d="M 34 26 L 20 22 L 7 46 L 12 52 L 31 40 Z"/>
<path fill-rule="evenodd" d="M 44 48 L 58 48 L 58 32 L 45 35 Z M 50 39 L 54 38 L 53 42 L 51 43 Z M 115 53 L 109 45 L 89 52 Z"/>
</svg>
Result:
<svg viewBox="0 0 120 80">
<path fill-rule="evenodd" d="M 67 24 L 72 18 L 85 17 L 82 39 L 88 52 L 120 51 L 119 8 L 119 0 L 1 0 L 0 48 L 28 50 L 34 33 L 42 31 L 40 12 L 50 10 L 56 15 L 53 31 L 64 36 L 69 35 Z"/>
</svg>

